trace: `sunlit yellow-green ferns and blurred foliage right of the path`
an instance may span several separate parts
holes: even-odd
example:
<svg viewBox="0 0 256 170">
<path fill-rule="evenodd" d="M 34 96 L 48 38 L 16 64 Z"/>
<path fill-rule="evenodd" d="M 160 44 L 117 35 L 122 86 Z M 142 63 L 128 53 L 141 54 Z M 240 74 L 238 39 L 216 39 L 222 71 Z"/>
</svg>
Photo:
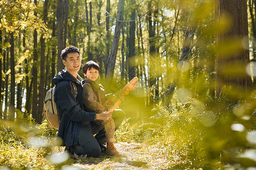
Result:
<svg viewBox="0 0 256 170">
<path fill-rule="evenodd" d="M 174 98 L 170 107 L 154 108 L 148 123 L 131 125 L 127 119 L 116 139 L 164 148 L 167 169 L 254 167 L 255 93 L 243 100 L 232 96 L 231 87 L 224 87 L 220 96 L 205 101 Z"/>
</svg>

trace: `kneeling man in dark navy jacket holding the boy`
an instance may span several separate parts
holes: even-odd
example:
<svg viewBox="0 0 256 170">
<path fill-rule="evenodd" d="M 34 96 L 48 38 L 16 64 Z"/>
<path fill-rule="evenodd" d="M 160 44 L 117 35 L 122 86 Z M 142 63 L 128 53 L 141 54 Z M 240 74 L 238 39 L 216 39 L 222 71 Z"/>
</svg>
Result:
<svg viewBox="0 0 256 170">
<path fill-rule="evenodd" d="M 57 138 L 62 139 L 71 154 L 98 157 L 103 146 L 99 143 L 104 138 L 104 126 L 93 125 L 94 120 L 109 120 L 111 114 L 82 111 L 81 78 L 77 72 L 81 67 L 79 49 L 68 46 L 61 52 L 66 70 L 60 71 L 54 78 L 56 85 L 55 102 L 59 112 L 60 127 Z M 124 115 L 112 116 L 115 128 L 123 121 Z M 98 139 L 93 134 L 100 133 Z"/>
</svg>

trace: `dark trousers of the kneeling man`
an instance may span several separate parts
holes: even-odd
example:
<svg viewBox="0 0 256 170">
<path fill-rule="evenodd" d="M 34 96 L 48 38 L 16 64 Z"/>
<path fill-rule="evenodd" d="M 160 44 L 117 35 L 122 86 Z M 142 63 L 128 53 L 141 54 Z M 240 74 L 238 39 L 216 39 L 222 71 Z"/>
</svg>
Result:
<svg viewBox="0 0 256 170">
<path fill-rule="evenodd" d="M 112 118 L 115 123 L 115 130 L 125 118 L 125 113 L 121 109 L 116 109 Z M 94 134 L 95 137 L 94 137 Z M 101 154 L 99 143 L 103 144 L 106 141 L 104 125 L 98 125 L 94 122 L 82 122 L 79 132 L 79 144 L 71 147 L 71 152 L 77 155 L 88 155 L 98 157 Z"/>
</svg>

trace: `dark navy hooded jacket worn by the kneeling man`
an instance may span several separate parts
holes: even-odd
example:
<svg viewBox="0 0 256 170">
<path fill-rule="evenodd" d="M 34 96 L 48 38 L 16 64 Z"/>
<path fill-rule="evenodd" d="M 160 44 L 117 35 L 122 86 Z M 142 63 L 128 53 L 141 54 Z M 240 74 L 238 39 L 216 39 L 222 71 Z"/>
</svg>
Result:
<svg viewBox="0 0 256 170">
<path fill-rule="evenodd" d="M 76 97 L 71 82 L 77 87 Z M 76 145 L 81 122 L 93 121 L 96 113 L 82 111 L 81 83 L 67 70 L 60 71 L 53 78 L 53 83 L 56 85 L 54 97 L 60 117 L 57 137 L 63 139 L 64 146 Z"/>
</svg>

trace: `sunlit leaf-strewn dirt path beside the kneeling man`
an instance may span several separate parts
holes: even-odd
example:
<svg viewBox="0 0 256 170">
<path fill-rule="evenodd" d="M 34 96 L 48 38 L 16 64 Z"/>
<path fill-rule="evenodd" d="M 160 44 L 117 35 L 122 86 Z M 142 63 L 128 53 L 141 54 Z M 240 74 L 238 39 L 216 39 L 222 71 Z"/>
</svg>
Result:
<svg viewBox="0 0 256 170">
<path fill-rule="evenodd" d="M 163 169 L 170 164 L 154 146 L 119 142 L 115 147 L 121 156 L 101 154 L 100 158 L 74 159 L 72 165 L 79 169 Z"/>
</svg>

